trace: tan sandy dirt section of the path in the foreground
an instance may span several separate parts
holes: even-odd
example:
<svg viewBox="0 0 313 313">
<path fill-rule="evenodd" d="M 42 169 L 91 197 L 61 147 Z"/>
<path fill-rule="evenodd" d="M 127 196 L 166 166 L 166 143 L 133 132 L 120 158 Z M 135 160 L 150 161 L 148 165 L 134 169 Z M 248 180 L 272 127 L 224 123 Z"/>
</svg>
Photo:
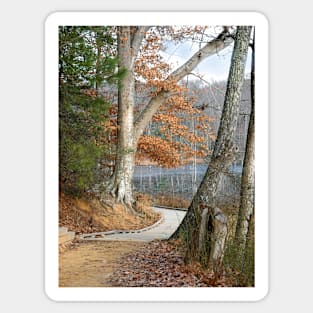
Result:
<svg viewBox="0 0 313 313">
<path fill-rule="evenodd" d="M 60 287 L 109 287 L 107 278 L 118 260 L 143 246 L 143 242 L 87 241 L 59 254 Z"/>
</svg>

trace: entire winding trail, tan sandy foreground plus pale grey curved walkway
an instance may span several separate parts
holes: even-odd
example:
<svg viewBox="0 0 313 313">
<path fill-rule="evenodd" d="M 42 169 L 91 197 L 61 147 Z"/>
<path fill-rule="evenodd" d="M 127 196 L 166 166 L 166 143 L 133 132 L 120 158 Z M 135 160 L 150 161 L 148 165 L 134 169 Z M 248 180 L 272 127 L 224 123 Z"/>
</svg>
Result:
<svg viewBox="0 0 313 313">
<path fill-rule="evenodd" d="M 118 269 L 119 260 L 146 242 L 168 239 L 186 212 L 153 208 L 163 220 L 149 230 L 89 237 L 72 244 L 59 254 L 60 287 L 109 287 L 108 277 Z M 101 234 L 101 233 L 98 233 Z"/>
</svg>

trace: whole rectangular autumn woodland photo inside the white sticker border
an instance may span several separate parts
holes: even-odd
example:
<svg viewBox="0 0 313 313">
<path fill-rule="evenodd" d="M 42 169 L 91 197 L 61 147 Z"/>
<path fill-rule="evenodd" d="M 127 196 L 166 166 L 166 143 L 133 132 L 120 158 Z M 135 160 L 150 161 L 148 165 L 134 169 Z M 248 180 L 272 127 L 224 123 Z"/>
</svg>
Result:
<svg viewBox="0 0 313 313">
<path fill-rule="evenodd" d="M 255 286 L 255 40 L 59 26 L 59 287 Z"/>
</svg>

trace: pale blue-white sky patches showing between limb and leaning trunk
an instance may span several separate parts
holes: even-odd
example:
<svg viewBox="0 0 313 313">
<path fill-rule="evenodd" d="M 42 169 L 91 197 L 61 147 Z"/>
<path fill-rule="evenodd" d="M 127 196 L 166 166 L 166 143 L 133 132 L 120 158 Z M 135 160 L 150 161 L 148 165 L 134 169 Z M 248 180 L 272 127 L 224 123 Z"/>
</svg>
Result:
<svg viewBox="0 0 313 313">
<path fill-rule="evenodd" d="M 230 67 L 233 45 L 220 51 L 217 55 L 210 56 L 203 60 L 200 65 L 193 71 L 195 74 L 200 74 L 201 77 L 208 81 L 227 80 Z M 199 44 L 191 42 L 180 43 L 174 45 L 167 42 L 165 49 L 162 51 L 164 59 L 173 65 L 173 70 L 182 65 L 196 51 L 199 50 Z M 250 51 L 250 49 L 249 49 Z M 248 54 L 245 73 L 250 73 L 251 53 Z M 189 75 L 189 79 L 197 79 L 193 75 Z"/>
</svg>

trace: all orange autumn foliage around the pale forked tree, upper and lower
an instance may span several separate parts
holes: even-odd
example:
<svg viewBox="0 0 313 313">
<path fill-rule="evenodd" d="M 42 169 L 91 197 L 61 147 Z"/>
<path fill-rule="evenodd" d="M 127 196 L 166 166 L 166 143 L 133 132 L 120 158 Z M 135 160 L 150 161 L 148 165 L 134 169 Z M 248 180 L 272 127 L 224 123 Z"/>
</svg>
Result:
<svg viewBox="0 0 313 313">
<path fill-rule="evenodd" d="M 135 114 L 139 114 L 150 97 L 159 93 L 168 95 L 158 112 L 140 137 L 136 150 L 136 163 L 150 161 L 163 167 L 176 167 L 194 156 L 203 158 L 209 154 L 209 140 L 214 140 L 210 129 L 212 118 L 193 107 L 196 96 L 188 86 L 170 79 L 171 65 L 164 61 L 160 51 L 162 38 L 175 42 L 201 34 L 203 28 L 184 27 L 180 33 L 175 28 L 162 30 L 151 28 L 140 47 L 134 64 L 136 80 Z M 112 108 L 116 108 L 116 105 Z M 114 111 L 114 113 L 113 113 Z M 110 132 L 111 151 L 116 151 L 116 109 L 110 110 L 110 120 L 105 127 Z M 113 113 L 113 114 L 112 114 Z"/>
</svg>

